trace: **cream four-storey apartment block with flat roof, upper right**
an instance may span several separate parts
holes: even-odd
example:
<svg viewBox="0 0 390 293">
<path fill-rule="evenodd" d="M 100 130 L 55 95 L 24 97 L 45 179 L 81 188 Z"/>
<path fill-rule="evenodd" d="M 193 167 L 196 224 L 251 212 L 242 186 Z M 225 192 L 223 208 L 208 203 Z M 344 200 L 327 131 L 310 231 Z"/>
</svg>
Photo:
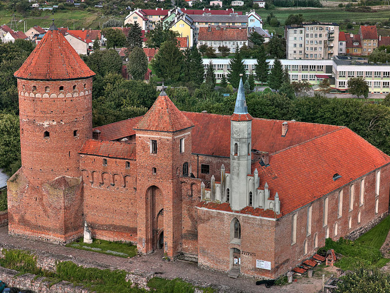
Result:
<svg viewBox="0 0 390 293">
<path fill-rule="evenodd" d="M 304 22 L 285 27 L 287 59 L 325 60 L 338 53 L 337 23 Z"/>
</svg>

